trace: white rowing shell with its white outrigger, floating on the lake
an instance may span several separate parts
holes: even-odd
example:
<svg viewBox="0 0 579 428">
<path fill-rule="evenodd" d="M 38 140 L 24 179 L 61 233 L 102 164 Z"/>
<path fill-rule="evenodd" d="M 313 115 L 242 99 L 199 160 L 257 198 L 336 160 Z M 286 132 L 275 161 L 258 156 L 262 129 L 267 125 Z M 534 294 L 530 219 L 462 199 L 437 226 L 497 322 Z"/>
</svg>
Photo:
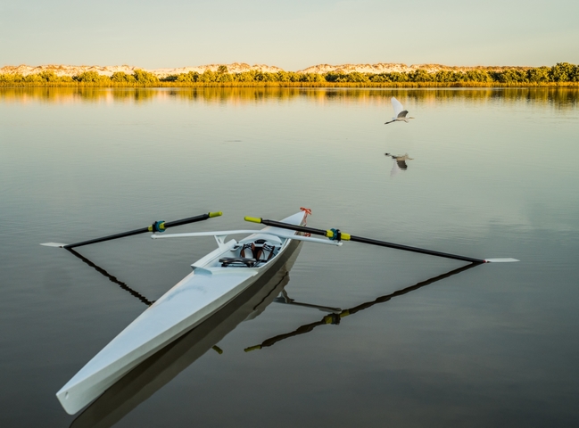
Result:
<svg viewBox="0 0 579 428">
<path fill-rule="evenodd" d="M 302 225 L 305 215 L 299 212 L 284 221 Z M 257 233 L 239 242 L 225 243 L 225 235 L 241 232 L 247 231 L 182 234 L 215 235 L 218 248 L 197 260 L 194 272 L 156 300 L 56 393 L 68 413 L 78 412 L 157 350 L 211 317 L 259 280 L 294 240 L 339 244 L 270 226 L 249 231 Z"/>
</svg>

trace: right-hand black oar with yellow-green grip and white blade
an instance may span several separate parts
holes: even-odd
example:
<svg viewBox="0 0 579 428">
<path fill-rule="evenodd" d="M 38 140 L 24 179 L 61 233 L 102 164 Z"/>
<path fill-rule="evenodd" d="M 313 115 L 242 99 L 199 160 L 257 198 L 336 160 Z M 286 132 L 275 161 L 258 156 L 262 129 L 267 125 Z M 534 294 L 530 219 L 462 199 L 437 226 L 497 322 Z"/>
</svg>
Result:
<svg viewBox="0 0 579 428">
<path fill-rule="evenodd" d="M 420 252 L 422 254 L 430 254 L 431 256 L 444 257 L 446 259 L 463 260 L 463 261 L 468 261 L 470 263 L 518 261 L 517 259 L 475 259 L 472 257 L 460 256 L 457 254 L 449 254 L 447 252 L 426 250 L 425 248 L 418 248 L 418 247 L 410 247 L 408 245 L 401 245 L 400 243 L 387 243 L 385 241 L 378 241 L 376 239 L 363 238 L 361 236 L 344 234 L 343 232 L 340 232 L 339 229 L 322 230 L 322 229 L 316 229 L 313 227 L 288 225 L 287 223 L 284 223 L 281 221 L 266 220 L 263 218 L 254 218 L 254 217 L 246 217 L 245 221 L 251 221 L 252 223 L 261 223 L 261 224 L 266 225 L 266 226 L 281 227 L 284 229 L 295 230 L 298 232 L 305 232 L 305 233 L 312 234 L 312 235 L 322 235 L 322 236 L 326 236 L 327 238 L 330 238 L 330 240 L 332 240 L 332 241 L 353 241 L 356 243 L 369 243 L 370 245 L 378 245 L 380 247 L 389 247 L 389 248 L 395 248 L 397 250 Z"/>
</svg>

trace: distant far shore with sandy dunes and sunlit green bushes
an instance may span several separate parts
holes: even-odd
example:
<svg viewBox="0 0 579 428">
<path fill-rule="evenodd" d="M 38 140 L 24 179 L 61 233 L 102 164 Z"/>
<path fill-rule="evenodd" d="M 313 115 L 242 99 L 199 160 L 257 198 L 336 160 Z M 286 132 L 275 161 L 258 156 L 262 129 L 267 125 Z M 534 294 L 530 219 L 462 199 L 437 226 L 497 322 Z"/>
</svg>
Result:
<svg viewBox="0 0 579 428">
<path fill-rule="evenodd" d="M 98 87 L 502 87 L 579 86 L 579 65 L 558 62 L 552 67 L 450 68 L 401 64 L 370 66 L 316 66 L 310 71 L 285 71 L 269 66 L 229 64 L 198 70 L 152 71 L 120 67 L 29 66 L 0 69 L 0 86 L 98 86 Z M 403 65 L 403 64 L 402 64 Z M 378 67 L 380 66 L 380 67 Z M 200 69 L 201 70 L 201 69 Z M 365 70 L 365 71 L 360 71 Z M 169 74 L 173 72 L 174 74 Z"/>
</svg>

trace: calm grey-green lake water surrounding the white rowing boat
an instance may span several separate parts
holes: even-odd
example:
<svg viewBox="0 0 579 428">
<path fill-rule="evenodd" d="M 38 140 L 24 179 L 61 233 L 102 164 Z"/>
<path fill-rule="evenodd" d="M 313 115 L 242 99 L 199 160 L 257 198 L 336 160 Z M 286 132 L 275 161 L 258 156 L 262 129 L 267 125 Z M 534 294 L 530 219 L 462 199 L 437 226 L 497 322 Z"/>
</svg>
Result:
<svg viewBox="0 0 579 428">
<path fill-rule="evenodd" d="M 385 126 L 393 95 L 417 119 Z M 579 424 L 578 106 L 573 89 L 0 89 L 0 425 Z M 128 289 L 158 299 L 215 242 L 79 249 L 117 283 L 38 243 L 300 207 L 314 227 L 522 261 L 456 273 L 305 244 L 85 413 L 62 410 L 55 392 L 146 308 Z M 282 290 L 350 316 L 327 324 Z"/>
</svg>

